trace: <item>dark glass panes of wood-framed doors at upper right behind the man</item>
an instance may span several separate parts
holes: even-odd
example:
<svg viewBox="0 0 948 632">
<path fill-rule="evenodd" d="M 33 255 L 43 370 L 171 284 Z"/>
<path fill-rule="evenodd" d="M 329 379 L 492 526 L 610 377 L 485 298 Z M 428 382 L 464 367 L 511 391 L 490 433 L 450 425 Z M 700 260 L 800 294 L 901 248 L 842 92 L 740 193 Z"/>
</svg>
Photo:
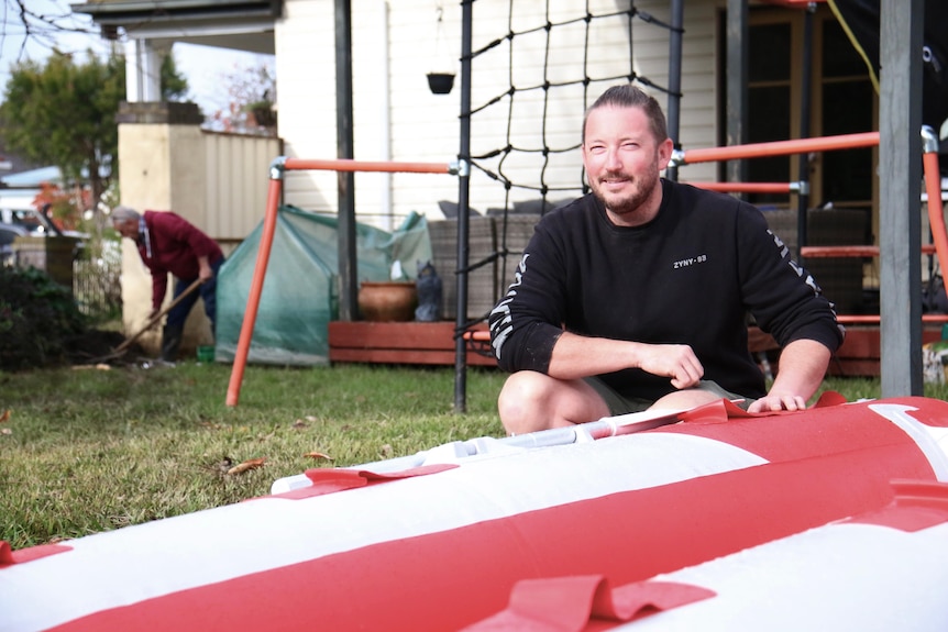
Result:
<svg viewBox="0 0 948 632">
<path fill-rule="evenodd" d="M 798 138 L 803 100 L 804 18 L 802 9 L 751 8 L 748 12 L 748 93 L 746 143 Z M 726 20 L 723 14 L 721 20 Z M 724 24 L 724 22 L 723 22 Z M 813 15 L 808 136 L 831 136 L 878 129 L 878 97 L 869 71 L 831 11 L 820 5 Z M 726 112 L 727 62 L 721 57 L 720 112 Z M 727 136 L 720 121 L 720 143 Z M 811 156 L 801 175 L 800 156 L 753 158 L 746 162 L 752 182 L 809 181 L 811 206 L 870 210 L 877 199 L 875 149 L 845 149 Z M 785 195 L 753 193 L 747 200 L 762 207 L 787 208 Z"/>
</svg>

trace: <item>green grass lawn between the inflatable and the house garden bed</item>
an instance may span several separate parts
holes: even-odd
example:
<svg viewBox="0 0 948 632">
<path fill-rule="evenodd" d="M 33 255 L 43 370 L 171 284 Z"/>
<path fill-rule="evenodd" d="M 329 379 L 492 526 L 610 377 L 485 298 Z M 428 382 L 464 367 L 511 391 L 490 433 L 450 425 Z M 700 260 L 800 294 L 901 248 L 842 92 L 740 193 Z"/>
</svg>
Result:
<svg viewBox="0 0 948 632">
<path fill-rule="evenodd" d="M 453 412 L 451 367 L 249 366 L 233 408 L 230 374 L 195 362 L 0 374 L 0 540 L 20 548 L 78 537 L 265 495 L 310 467 L 503 434 L 496 369 L 467 372 L 464 414 Z M 879 397 L 880 384 L 824 389 L 856 400 Z M 948 389 L 926 395 L 948 399 Z M 262 467 L 228 474 L 258 458 Z"/>
</svg>

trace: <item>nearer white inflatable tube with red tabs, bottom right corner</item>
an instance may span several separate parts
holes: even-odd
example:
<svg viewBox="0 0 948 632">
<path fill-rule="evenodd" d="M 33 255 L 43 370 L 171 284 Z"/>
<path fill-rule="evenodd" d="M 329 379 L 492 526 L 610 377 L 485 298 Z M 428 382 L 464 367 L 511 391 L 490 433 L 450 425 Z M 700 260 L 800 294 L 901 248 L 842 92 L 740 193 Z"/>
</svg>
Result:
<svg viewBox="0 0 948 632">
<path fill-rule="evenodd" d="M 520 580 L 464 632 L 948 630 L 948 486 L 894 487 L 885 509 L 643 581 Z"/>
</svg>

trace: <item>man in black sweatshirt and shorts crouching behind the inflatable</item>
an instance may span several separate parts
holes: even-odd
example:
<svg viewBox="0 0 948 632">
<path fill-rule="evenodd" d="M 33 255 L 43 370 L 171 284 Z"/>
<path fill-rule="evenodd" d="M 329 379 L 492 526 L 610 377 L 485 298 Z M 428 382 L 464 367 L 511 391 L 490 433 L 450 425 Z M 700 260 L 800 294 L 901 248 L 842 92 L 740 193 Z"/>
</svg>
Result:
<svg viewBox="0 0 948 632">
<path fill-rule="evenodd" d="M 540 220 L 488 319 L 511 373 L 498 398 L 505 430 L 720 398 L 751 412 L 806 408 L 844 329 L 763 214 L 661 178 L 665 117 L 635 86 L 593 103 L 582 140 L 592 192 Z M 782 346 L 769 392 L 748 312 Z"/>
</svg>

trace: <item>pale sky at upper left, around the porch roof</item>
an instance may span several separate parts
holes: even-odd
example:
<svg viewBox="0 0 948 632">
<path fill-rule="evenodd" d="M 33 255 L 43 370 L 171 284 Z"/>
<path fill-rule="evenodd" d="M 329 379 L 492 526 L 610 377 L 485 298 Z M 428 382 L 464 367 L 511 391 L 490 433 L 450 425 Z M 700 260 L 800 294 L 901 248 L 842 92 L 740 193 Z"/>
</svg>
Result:
<svg viewBox="0 0 948 632">
<path fill-rule="evenodd" d="M 20 15 L 20 2 L 31 15 L 31 35 Z M 22 59 L 42 62 L 53 47 L 64 53 L 84 53 L 88 48 L 107 54 L 110 43 L 88 15 L 73 13 L 67 0 L 0 0 L 0 95 L 10 78 L 10 67 Z M 206 114 L 225 108 L 225 78 L 244 68 L 257 67 L 272 57 L 224 48 L 176 44 L 174 49 L 178 71 L 188 79 L 191 99 Z"/>
</svg>

